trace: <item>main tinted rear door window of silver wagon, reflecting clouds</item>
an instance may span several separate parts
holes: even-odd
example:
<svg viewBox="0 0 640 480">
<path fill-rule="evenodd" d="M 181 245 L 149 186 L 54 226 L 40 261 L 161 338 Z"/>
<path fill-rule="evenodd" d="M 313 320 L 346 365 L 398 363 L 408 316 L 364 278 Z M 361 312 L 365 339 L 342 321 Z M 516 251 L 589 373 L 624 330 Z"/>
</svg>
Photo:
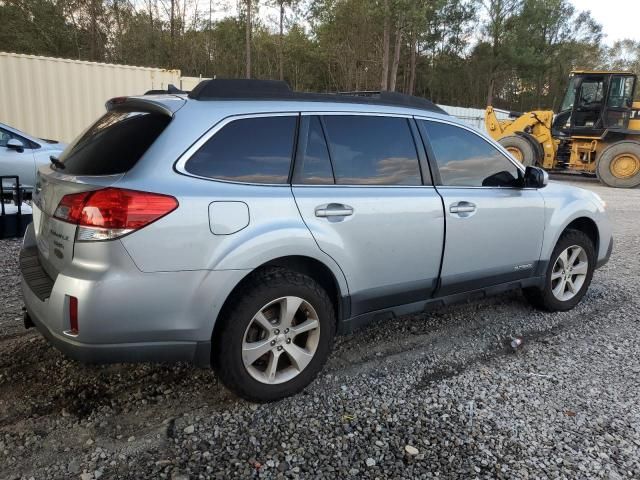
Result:
<svg viewBox="0 0 640 480">
<path fill-rule="evenodd" d="M 337 185 L 421 185 L 420 164 L 406 118 L 323 117 Z"/>
</svg>

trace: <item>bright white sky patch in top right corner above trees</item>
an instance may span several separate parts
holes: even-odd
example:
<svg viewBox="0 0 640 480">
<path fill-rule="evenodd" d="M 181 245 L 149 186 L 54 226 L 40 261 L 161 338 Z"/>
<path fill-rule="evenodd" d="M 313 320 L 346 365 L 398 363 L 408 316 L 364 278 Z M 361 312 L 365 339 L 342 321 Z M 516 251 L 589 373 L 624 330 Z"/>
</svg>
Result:
<svg viewBox="0 0 640 480">
<path fill-rule="evenodd" d="M 605 43 L 630 38 L 640 40 L 640 0 L 571 0 L 576 10 L 590 10 L 602 25 Z"/>
</svg>

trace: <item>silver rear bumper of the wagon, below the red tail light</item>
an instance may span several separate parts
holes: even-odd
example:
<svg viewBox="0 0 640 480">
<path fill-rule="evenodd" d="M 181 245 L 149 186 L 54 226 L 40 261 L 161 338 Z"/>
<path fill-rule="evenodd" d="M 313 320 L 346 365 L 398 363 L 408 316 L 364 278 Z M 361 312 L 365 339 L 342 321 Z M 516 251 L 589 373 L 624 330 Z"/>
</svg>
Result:
<svg viewBox="0 0 640 480">
<path fill-rule="evenodd" d="M 27 313 L 41 334 L 85 363 L 188 361 L 209 366 L 217 313 L 244 273 L 143 273 L 122 244 L 100 243 L 77 246 L 73 265 L 51 279 L 34 250 L 33 227 L 27 229 L 21 286 Z M 69 334 L 70 296 L 78 299 L 77 336 Z"/>
</svg>

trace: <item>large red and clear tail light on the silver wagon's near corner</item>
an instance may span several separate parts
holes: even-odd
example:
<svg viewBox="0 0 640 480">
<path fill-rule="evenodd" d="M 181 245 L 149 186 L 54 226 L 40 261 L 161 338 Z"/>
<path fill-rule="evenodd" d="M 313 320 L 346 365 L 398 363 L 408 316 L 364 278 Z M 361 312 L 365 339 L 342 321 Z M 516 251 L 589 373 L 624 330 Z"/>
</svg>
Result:
<svg viewBox="0 0 640 480">
<path fill-rule="evenodd" d="M 65 195 L 53 216 L 78 225 L 78 241 L 113 240 L 146 227 L 176 208 L 178 200 L 170 195 L 105 188 Z"/>
</svg>

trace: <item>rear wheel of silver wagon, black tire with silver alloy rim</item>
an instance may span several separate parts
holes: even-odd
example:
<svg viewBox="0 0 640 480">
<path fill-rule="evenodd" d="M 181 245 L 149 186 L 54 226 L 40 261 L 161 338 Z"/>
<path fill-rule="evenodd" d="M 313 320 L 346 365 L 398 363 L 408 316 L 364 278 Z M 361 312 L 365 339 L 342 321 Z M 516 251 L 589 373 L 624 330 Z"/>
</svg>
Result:
<svg viewBox="0 0 640 480">
<path fill-rule="evenodd" d="M 218 319 L 212 364 L 240 397 L 270 402 L 309 385 L 335 335 L 331 299 L 311 277 L 282 268 L 253 274 Z"/>
</svg>

